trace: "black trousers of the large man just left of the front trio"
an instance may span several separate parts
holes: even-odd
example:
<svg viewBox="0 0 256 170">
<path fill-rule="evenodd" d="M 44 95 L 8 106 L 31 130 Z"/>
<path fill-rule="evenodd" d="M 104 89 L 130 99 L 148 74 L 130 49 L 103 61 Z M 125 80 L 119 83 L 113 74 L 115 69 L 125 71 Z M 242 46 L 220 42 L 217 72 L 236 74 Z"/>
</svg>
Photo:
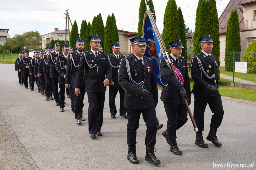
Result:
<svg viewBox="0 0 256 170">
<path fill-rule="evenodd" d="M 88 125 L 90 134 L 96 134 L 101 131 L 105 93 L 106 92 L 87 92 L 89 103 Z"/>
</svg>

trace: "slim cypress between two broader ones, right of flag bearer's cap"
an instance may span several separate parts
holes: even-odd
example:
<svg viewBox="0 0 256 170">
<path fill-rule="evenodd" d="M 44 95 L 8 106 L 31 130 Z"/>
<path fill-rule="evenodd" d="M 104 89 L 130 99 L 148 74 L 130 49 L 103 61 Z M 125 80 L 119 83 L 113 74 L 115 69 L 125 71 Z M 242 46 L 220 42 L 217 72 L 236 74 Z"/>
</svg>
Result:
<svg viewBox="0 0 256 170">
<path fill-rule="evenodd" d="M 186 36 L 186 28 L 185 28 L 185 21 L 182 15 L 182 11 L 179 7 L 178 9 L 178 13 L 179 13 L 179 31 L 180 31 L 180 40 L 183 43 L 183 49 L 182 49 L 182 54 L 181 56 L 185 57 L 185 59 L 187 59 L 187 36 Z"/>
</svg>

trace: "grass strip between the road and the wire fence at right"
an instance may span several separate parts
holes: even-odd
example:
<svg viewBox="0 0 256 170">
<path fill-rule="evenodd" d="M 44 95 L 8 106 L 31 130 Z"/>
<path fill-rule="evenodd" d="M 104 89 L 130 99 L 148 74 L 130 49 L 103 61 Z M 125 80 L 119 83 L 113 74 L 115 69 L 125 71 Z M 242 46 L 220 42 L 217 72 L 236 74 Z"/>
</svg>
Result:
<svg viewBox="0 0 256 170">
<path fill-rule="evenodd" d="M 190 88 L 193 88 L 193 82 L 190 82 Z M 231 87 L 231 86 L 219 86 L 221 96 L 237 98 L 241 100 L 256 101 L 256 89 L 243 88 L 243 87 Z"/>
</svg>

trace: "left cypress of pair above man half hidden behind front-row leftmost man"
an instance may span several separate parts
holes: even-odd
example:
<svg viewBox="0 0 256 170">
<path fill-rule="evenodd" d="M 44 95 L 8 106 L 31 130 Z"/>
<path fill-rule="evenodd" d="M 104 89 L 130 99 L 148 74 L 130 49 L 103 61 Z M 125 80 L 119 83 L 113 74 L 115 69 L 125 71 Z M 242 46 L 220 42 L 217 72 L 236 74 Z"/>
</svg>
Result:
<svg viewBox="0 0 256 170">
<path fill-rule="evenodd" d="M 107 54 L 111 54 L 112 53 L 112 47 L 111 44 L 114 42 L 113 38 L 113 22 L 112 22 L 112 18 L 110 17 L 110 15 L 107 17 L 107 21 L 106 21 L 106 27 L 105 27 L 105 43 L 104 43 L 104 52 L 106 52 Z"/>
</svg>

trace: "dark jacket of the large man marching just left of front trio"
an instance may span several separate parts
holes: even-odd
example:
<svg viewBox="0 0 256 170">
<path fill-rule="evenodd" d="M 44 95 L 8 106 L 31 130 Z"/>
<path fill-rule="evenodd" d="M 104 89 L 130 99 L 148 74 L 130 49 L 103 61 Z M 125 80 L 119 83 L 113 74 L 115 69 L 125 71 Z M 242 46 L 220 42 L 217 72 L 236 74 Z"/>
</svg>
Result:
<svg viewBox="0 0 256 170">
<path fill-rule="evenodd" d="M 91 67 L 95 64 L 97 64 L 97 66 L 90 68 L 85 60 L 85 56 Z M 106 87 L 103 82 L 105 79 L 110 81 L 112 78 L 112 69 L 107 57 L 107 54 L 101 51 L 98 51 L 98 59 L 96 59 L 91 50 L 84 52 L 80 59 L 75 88 L 81 87 L 82 77 L 85 76 L 86 92 L 105 92 Z"/>
</svg>

